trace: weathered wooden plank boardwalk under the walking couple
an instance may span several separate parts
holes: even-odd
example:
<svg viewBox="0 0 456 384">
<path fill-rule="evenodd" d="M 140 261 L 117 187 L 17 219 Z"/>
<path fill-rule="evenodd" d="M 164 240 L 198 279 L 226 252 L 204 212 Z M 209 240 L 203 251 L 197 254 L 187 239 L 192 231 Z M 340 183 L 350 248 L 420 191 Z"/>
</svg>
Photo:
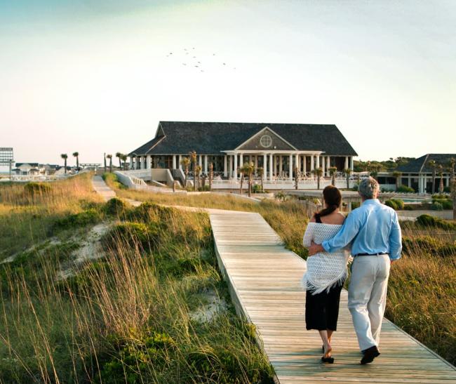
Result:
<svg viewBox="0 0 456 384">
<path fill-rule="evenodd" d="M 284 248 L 258 213 L 211 212 L 220 269 L 240 315 L 255 324 L 280 383 L 456 383 L 456 369 L 384 319 L 380 351 L 361 366 L 361 353 L 342 291 L 335 364 L 321 364 L 321 339 L 306 331 L 305 293 L 300 278 L 306 263 Z"/>
</svg>

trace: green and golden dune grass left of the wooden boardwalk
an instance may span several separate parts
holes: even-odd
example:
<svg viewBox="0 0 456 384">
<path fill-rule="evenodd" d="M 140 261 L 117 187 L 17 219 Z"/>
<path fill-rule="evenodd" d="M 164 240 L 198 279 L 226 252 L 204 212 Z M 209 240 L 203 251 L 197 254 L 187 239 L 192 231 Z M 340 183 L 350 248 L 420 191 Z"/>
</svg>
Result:
<svg viewBox="0 0 456 384">
<path fill-rule="evenodd" d="M 208 216 L 96 199 L 87 207 L 83 200 L 93 193 L 88 179 L 74 179 L 85 186 L 83 199 L 72 196 L 72 183 L 55 183 L 53 193 L 62 188 L 65 196 L 67 189 L 68 204 L 61 201 L 60 208 L 47 197 L 18 199 L 24 185 L 13 186 L 18 197 L 8 204 L 51 216 L 43 220 L 43 232 L 34 233 L 35 241 L 53 228 L 68 234 L 60 226 L 82 230 L 109 221 L 112 229 L 102 239 L 105 256 L 81 265 L 66 280 L 57 272 L 78 246 L 71 241 L 43 245 L 43 252 L 21 253 L 0 265 L 1 382 L 270 383 L 272 370 L 254 331 L 231 305 L 206 322 L 192 316 L 204 309 L 208 293 L 229 303 Z M 5 214 L 10 223 L 25 221 L 22 211 Z M 27 230 L 18 227 L 18 235 Z"/>
</svg>

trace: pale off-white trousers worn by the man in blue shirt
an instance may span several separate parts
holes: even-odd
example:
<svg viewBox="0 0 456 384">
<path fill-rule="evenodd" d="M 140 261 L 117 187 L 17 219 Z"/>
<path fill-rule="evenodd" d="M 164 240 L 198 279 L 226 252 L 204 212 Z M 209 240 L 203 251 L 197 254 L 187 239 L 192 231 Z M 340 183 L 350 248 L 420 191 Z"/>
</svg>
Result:
<svg viewBox="0 0 456 384">
<path fill-rule="evenodd" d="M 349 310 L 361 350 L 379 345 L 389 267 L 388 255 L 356 256 L 351 265 Z"/>
</svg>

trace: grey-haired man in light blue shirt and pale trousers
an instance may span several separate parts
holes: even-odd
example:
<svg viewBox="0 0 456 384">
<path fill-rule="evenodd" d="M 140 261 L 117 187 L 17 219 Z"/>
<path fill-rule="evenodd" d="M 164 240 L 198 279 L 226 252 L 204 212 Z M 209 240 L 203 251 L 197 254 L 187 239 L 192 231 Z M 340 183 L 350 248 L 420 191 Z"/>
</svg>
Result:
<svg viewBox="0 0 456 384">
<path fill-rule="evenodd" d="M 380 329 L 385 305 L 390 263 L 401 258 L 401 227 L 396 212 L 377 199 L 377 180 L 359 183 L 363 204 L 354 209 L 333 239 L 312 244 L 309 255 L 333 252 L 351 243 L 354 256 L 349 285 L 349 310 L 359 347 L 361 364 L 373 362 L 380 355 Z"/>
</svg>

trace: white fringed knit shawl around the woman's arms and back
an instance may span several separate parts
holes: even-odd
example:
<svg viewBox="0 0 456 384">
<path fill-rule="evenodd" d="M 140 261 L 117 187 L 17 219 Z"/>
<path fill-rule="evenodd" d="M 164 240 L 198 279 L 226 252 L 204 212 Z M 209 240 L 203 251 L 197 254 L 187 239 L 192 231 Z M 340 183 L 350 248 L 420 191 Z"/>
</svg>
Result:
<svg viewBox="0 0 456 384">
<path fill-rule="evenodd" d="M 324 240 L 331 239 L 339 232 L 342 225 L 309 223 L 302 243 L 309 247 L 313 240 L 321 244 Z M 342 283 L 347 279 L 347 263 L 349 252 L 340 249 L 333 253 L 320 252 L 307 258 L 307 271 L 302 277 L 302 288 L 316 295 L 329 291 L 332 286 Z"/>
</svg>

